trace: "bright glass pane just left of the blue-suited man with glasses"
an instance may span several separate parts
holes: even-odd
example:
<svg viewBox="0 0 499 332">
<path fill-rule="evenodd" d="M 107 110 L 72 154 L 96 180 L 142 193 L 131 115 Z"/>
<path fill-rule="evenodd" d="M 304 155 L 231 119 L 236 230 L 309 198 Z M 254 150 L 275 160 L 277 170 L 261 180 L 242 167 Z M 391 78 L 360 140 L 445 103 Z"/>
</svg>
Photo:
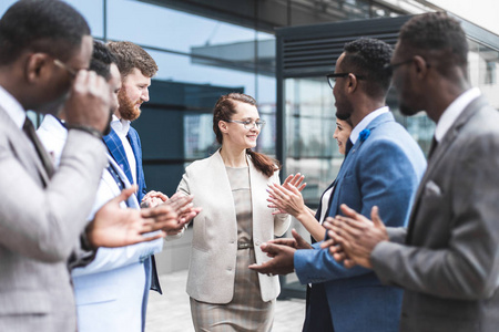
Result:
<svg viewBox="0 0 499 332">
<path fill-rule="evenodd" d="M 285 174 L 302 173 L 307 187 L 305 203 L 317 206 L 342 164 L 333 134 L 335 112 L 333 94 L 324 77 L 287 79 Z"/>
</svg>

